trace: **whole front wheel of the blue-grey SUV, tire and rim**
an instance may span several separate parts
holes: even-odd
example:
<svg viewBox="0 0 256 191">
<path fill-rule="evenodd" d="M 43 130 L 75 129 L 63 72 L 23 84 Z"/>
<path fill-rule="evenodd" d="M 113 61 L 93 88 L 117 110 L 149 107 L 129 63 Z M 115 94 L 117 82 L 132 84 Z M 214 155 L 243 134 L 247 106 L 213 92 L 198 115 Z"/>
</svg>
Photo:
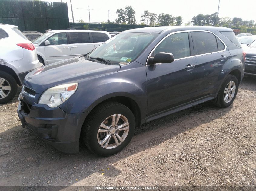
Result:
<svg viewBox="0 0 256 191">
<path fill-rule="evenodd" d="M 135 132 L 135 117 L 123 104 L 108 102 L 95 108 L 83 127 L 85 145 L 95 154 L 110 156 L 120 152 Z"/>
</svg>

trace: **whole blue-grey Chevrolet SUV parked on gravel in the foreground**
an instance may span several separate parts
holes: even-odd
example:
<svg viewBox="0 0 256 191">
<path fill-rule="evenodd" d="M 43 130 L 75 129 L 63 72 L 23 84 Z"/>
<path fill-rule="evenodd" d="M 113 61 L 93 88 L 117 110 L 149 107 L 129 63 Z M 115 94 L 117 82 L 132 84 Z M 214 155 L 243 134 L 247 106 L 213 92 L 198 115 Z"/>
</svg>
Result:
<svg viewBox="0 0 256 191">
<path fill-rule="evenodd" d="M 18 116 L 62 152 L 78 152 L 83 141 L 108 156 L 127 146 L 145 122 L 209 100 L 230 106 L 244 62 L 232 29 L 126 30 L 88 54 L 29 73 Z"/>
</svg>

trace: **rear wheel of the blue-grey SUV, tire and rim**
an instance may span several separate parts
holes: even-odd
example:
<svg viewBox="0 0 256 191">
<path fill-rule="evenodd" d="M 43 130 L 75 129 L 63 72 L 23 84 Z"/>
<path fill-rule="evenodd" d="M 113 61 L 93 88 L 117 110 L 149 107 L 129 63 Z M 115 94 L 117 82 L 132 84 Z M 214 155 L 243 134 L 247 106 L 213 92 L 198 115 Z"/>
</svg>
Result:
<svg viewBox="0 0 256 191">
<path fill-rule="evenodd" d="M 228 75 L 221 85 L 217 97 L 214 99 L 214 105 L 218 107 L 230 106 L 238 91 L 238 80 L 234 75 Z"/>
</svg>

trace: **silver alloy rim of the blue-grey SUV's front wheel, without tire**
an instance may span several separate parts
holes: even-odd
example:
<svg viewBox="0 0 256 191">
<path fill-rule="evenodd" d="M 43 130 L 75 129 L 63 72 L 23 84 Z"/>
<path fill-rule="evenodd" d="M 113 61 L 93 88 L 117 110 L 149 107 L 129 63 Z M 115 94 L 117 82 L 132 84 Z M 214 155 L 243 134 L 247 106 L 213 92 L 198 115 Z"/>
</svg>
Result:
<svg viewBox="0 0 256 191">
<path fill-rule="evenodd" d="M 116 148 L 124 142 L 129 132 L 128 119 L 121 114 L 107 117 L 98 129 L 98 143 L 106 149 Z"/>
</svg>

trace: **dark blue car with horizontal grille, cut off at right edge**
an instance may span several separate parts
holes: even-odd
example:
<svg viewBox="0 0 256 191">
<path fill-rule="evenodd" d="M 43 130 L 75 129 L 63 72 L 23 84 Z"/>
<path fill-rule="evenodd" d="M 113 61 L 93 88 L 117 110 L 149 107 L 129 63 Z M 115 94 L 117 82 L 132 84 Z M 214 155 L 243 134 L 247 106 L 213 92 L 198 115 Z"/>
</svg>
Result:
<svg viewBox="0 0 256 191">
<path fill-rule="evenodd" d="M 256 76 L 256 40 L 246 48 L 245 75 Z"/>
</svg>

